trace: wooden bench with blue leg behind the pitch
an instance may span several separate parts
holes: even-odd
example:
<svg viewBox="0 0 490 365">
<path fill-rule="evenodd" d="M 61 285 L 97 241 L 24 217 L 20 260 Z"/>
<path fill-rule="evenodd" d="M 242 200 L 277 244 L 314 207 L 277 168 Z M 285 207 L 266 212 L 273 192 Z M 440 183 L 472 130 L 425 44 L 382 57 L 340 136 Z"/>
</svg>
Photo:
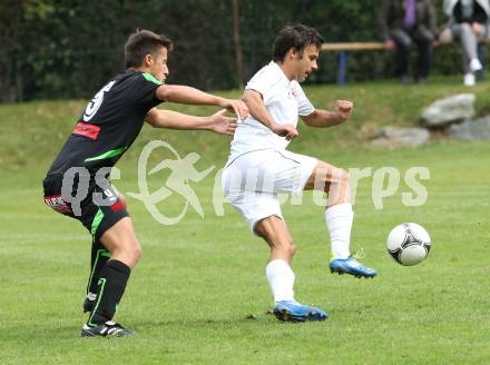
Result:
<svg viewBox="0 0 490 365">
<path fill-rule="evenodd" d="M 490 39 L 483 40 L 478 47 L 478 58 L 481 60 L 483 65 L 483 48 L 482 43 L 490 45 Z M 440 47 L 445 43 L 441 43 L 435 41 L 433 43 L 434 47 Z M 337 83 L 340 87 L 345 87 L 346 77 L 347 77 L 347 62 L 349 62 L 349 52 L 352 51 L 379 51 L 386 50 L 386 47 L 382 42 L 344 42 L 344 43 L 323 43 L 321 51 L 327 52 L 336 52 L 337 53 Z M 483 75 L 483 70 L 480 71 L 481 76 Z"/>
</svg>

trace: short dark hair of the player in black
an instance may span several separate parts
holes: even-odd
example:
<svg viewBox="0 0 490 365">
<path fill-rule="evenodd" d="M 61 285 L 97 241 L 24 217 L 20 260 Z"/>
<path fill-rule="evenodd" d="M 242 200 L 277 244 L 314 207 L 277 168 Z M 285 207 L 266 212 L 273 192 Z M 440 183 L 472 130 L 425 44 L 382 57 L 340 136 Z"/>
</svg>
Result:
<svg viewBox="0 0 490 365">
<path fill-rule="evenodd" d="M 126 67 L 141 66 L 146 55 L 155 55 L 161 47 L 171 51 L 171 40 L 164 34 L 156 34 L 149 30 L 138 29 L 135 33 L 129 36 L 125 45 Z"/>
</svg>

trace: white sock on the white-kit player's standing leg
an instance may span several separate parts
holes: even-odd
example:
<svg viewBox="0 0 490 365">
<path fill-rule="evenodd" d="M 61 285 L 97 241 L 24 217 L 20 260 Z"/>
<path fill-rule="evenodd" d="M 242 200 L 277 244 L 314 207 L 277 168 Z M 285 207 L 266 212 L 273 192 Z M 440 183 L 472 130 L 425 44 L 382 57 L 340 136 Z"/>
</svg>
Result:
<svg viewBox="0 0 490 365">
<path fill-rule="evenodd" d="M 271 285 L 274 302 L 294 300 L 294 273 L 283 259 L 274 259 L 265 268 L 268 285 Z"/>
</svg>

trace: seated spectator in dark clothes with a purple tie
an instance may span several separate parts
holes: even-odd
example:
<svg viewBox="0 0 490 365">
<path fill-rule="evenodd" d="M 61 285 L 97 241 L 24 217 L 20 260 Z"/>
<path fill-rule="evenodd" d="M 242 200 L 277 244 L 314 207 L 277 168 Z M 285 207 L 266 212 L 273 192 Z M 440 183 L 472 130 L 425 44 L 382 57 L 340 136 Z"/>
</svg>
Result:
<svg viewBox="0 0 490 365">
<path fill-rule="evenodd" d="M 381 0 L 380 28 L 386 49 L 396 49 L 395 73 L 408 83 L 409 56 L 412 42 L 419 58 L 415 81 L 425 82 L 429 76 L 432 42 L 435 36 L 435 10 L 430 0 Z"/>
</svg>

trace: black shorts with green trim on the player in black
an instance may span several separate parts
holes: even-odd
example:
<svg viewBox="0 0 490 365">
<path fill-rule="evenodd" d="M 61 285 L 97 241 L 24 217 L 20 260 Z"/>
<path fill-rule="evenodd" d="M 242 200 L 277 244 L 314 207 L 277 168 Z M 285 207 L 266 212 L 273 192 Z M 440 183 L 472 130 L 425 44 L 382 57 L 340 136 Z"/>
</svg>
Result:
<svg viewBox="0 0 490 365">
<path fill-rule="evenodd" d="M 75 208 L 74 200 L 61 195 L 62 178 L 62 175 L 48 175 L 42 181 L 46 205 L 65 216 L 81 221 L 94 239 L 99 240 L 106 230 L 129 216 L 122 196 L 110 184 L 106 189 L 101 188 L 94 178 L 90 178 L 87 196 L 77 203 L 77 208 Z M 76 184 L 71 191 L 72 197 L 79 193 Z M 95 199 L 95 194 L 99 194 L 99 200 L 101 197 L 104 203 Z"/>
</svg>

